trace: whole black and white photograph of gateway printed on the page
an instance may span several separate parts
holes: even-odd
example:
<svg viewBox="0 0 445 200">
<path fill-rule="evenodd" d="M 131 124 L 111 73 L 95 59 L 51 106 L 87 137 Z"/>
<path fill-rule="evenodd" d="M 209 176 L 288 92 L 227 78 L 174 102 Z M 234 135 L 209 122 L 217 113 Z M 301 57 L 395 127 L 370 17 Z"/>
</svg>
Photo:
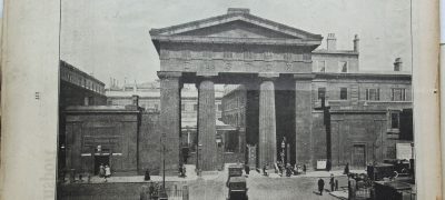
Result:
<svg viewBox="0 0 445 200">
<path fill-rule="evenodd" d="M 408 0 L 61 0 L 57 199 L 415 200 Z"/>
</svg>

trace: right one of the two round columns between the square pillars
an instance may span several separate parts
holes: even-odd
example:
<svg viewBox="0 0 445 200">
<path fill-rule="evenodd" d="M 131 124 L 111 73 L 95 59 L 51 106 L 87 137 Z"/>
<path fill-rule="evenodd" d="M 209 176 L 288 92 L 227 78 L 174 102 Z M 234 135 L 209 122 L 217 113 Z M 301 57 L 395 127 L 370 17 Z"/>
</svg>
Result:
<svg viewBox="0 0 445 200">
<path fill-rule="evenodd" d="M 275 86 L 276 73 L 259 74 L 263 79 L 259 84 L 259 137 L 258 162 L 259 166 L 268 163 L 269 169 L 277 161 L 277 134 L 275 114 Z"/>
</svg>

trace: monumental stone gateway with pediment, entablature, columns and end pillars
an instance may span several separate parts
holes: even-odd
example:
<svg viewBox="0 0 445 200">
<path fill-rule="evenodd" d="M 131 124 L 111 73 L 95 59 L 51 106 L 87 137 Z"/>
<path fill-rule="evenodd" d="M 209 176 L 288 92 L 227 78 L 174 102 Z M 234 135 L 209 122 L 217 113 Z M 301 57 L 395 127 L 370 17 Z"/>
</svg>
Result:
<svg viewBox="0 0 445 200">
<path fill-rule="evenodd" d="M 289 161 L 308 161 L 312 112 L 312 51 L 319 34 L 228 9 L 222 16 L 150 30 L 159 53 L 160 127 L 166 171 L 181 160 L 181 97 L 185 83 L 198 89 L 197 168 L 218 168 L 215 84 L 241 84 L 246 90 L 246 143 L 257 146 L 256 166 L 273 166 L 280 143 L 289 143 Z M 306 116 L 306 118 L 304 118 Z M 297 153 L 297 151 L 301 151 Z M 289 162 L 287 161 L 287 162 Z M 162 164 L 161 164 L 162 166 Z"/>
</svg>

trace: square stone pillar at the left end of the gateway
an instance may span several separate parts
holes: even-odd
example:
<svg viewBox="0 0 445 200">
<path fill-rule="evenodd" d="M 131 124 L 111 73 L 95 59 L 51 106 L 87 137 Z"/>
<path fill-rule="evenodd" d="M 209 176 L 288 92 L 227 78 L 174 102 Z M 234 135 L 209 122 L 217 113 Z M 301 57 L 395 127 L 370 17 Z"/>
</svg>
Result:
<svg viewBox="0 0 445 200">
<path fill-rule="evenodd" d="M 158 71 L 160 79 L 160 173 L 177 174 L 179 167 L 181 72 Z"/>
</svg>

